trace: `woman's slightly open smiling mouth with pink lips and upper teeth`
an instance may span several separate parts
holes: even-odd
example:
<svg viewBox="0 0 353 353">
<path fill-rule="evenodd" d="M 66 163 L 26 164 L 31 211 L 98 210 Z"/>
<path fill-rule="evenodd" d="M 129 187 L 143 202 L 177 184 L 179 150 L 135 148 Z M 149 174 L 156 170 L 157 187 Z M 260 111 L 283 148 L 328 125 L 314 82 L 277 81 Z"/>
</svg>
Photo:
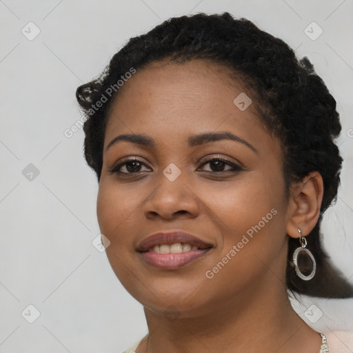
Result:
<svg viewBox="0 0 353 353">
<path fill-rule="evenodd" d="M 137 246 L 141 258 L 163 270 L 175 270 L 199 260 L 214 246 L 184 232 L 160 232 Z"/>
</svg>

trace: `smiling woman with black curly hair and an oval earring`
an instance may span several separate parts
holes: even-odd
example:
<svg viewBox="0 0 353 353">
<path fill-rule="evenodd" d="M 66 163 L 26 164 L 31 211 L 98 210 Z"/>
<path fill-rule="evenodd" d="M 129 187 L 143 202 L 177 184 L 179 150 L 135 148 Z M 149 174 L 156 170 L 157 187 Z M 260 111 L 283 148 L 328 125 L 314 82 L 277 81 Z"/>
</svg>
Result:
<svg viewBox="0 0 353 353">
<path fill-rule="evenodd" d="M 77 99 L 102 242 L 148 323 L 131 352 L 328 352 L 288 299 L 353 296 L 321 248 L 341 125 L 310 62 L 246 19 L 183 16 Z"/>
</svg>

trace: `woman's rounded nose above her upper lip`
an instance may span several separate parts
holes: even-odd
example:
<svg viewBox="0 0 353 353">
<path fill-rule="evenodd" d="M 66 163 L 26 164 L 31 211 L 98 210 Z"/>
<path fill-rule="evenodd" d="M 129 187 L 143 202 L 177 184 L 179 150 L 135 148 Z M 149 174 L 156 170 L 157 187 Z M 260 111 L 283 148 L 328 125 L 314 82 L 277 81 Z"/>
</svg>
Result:
<svg viewBox="0 0 353 353">
<path fill-rule="evenodd" d="M 147 219 L 192 219 L 199 215 L 200 203 L 186 178 L 170 181 L 163 174 L 143 204 Z"/>
</svg>

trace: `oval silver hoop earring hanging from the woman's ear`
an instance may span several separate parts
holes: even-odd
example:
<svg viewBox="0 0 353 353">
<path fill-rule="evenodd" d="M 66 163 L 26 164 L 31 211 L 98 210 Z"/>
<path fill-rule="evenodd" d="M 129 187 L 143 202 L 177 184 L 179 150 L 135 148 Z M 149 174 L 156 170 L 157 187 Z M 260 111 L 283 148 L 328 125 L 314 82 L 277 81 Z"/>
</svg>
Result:
<svg viewBox="0 0 353 353">
<path fill-rule="evenodd" d="M 295 272 L 300 279 L 303 279 L 304 281 L 309 281 L 310 279 L 312 279 L 312 277 L 314 277 L 314 274 L 316 272 L 316 261 L 314 259 L 314 256 L 312 256 L 310 250 L 305 249 L 307 241 L 305 237 L 301 236 L 301 230 L 298 230 L 298 232 L 300 235 L 299 242 L 301 243 L 301 248 L 297 248 L 293 253 Z M 309 258 L 306 255 L 309 256 Z M 310 261 L 308 261 L 309 259 Z M 303 265 L 302 269 L 299 268 L 298 262 Z M 312 265 L 309 265 L 310 262 L 312 263 Z M 310 268 L 312 268 L 311 271 Z"/>
</svg>

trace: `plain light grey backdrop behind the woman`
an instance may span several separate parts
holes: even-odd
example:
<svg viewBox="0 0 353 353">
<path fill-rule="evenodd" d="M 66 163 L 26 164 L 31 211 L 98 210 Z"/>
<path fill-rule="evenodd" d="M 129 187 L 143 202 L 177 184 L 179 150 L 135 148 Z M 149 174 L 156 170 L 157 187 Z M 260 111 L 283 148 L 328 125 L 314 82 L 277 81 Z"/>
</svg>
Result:
<svg viewBox="0 0 353 353">
<path fill-rule="evenodd" d="M 224 11 L 309 57 L 338 102 L 345 162 L 322 232 L 353 283 L 352 0 L 0 0 L 0 352 L 121 352 L 147 332 L 142 306 L 92 244 L 98 185 L 83 131 L 64 132 L 81 119 L 77 87 L 130 37 L 169 17 Z M 353 330 L 352 300 L 293 305 L 316 330 Z"/>
</svg>

